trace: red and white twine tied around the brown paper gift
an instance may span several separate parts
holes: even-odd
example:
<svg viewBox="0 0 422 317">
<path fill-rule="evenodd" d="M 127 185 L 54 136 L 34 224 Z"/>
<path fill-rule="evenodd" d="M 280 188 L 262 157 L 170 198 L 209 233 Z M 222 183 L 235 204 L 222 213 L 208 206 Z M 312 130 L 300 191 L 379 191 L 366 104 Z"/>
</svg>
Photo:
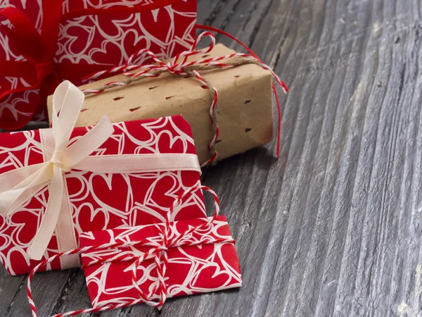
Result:
<svg viewBox="0 0 422 317">
<path fill-rule="evenodd" d="M 198 46 L 198 43 L 201 39 L 204 37 L 210 37 L 211 39 L 211 45 L 206 49 L 196 49 L 196 46 Z M 215 116 L 215 108 L 217 107 L 218 102 L 218 92 L 215 87 L 210 87 L 209 83 L 207 83 L 206 80 L 200 75 L 200 73 L 197 70 L 193 70 L 191 72 L 187 72 L 187 67 L 194 67 L 194 66 L 215 66 L 216 68 L 226 69 L 226 68 L 234 68 L 236 65 L 229 65 L 228 63 L 220 63 L 220 61 L 231 59 L 231 58 L 245 58 L 249 59 L 251 61 L 254 61 L 257 65 L 261 66 L 265 70 L 268 70 L 271 72 L 271 75 L 274 77 L 276 82 L 281 86 L 283 91 L 286 93 L 288 92 L 288 87 L 286 84 L 280 79 L 276 73 L 274 73 L 274 70 L 272 70 L 269 66 L 264 64 L 259 58 L 255 58 L 254 56 L 250 54 L 243 54 L 243 53 L 234 53 L 229 54 L 226 56 L 218 56 L 218 57 L 212 57 L 212 58 L 205 58 L 201 59 L 199 61 L 187 61 L 187 58 L 189 56 L 194 55 L 201 55 L 201 54 L 207 54 L 212 49 L 214 49 L 215 46 L 215 36 L 211 32 L 203 32 L 201 35 L 198 36 L 196 41 L 193 43 L 191 49 L 188 51 L 183 51 L 179 54 L 177 54 L 172 61 L 168 63 L 163 63 L 160 61 L 160 59 L 153 54 L 152 51 L 149 51 L 148 49 L 141 49 L 136 54 L 132 55 L 127 63 L 125 63 L 122 66 L 117 66 L 114 68 L 110 68 L 108 70 L 103 70 L 101 72 L 95 73 L 93 75 L 89 75 L 88 77 L 84 78 L 84 80 L 96 80 L 99 77 L 109 77 L 110 75 L 115 74 L 123 74 L 127 77 L 130 77 L 132 79 L 136 79 L 139 77 L 158 77 L 163 72 L 171 73 L 172 75 L 179 75 L 179 76 L 191 76 L 193 74 L 193 78 L 198 80 L 203 88 L 210 89 L 213 92 L 213 100 L 212 104 L 210 106 L 210 120 L 214 127 L 214 136 L 212 137 L 212 140 L 210 144 L 208 145 L 208 149 L 210 151 L 215 148 L 215 144 L 217 142 L 217 138 L 219 136 L 219 127 L 216 122 L 216 116 Z M 136 61 L 137 58 L 144 55 L 149 55 L 153 58 L 156 64 L 150 64 L 150 65 L 133 65 L 134 61 Z M 133 73 L 134 70 L 136 70 L 136 73 Z M 124 87 L 127 85 L 130 85 L 131 81 L 125 81 L 125 82 L 108 82 L 106 85 L 101 87 L 101 89 L 84 89 L 83 92 L 85 94 L 100 94 L 101 92 L 104 92 L 108 87 L 115 87 L 120 86 Z M 276 89 L 273 85 L 273 91 L 276 96 L 277 101 L 277 107 L 279 108 L 279 135 L 277 137 L 277 156 L 279 156 L 279 143 L 280 143 L 280 133 L 281 133 L 281 111 L 280 111 L 280 105 L 279 105 L 279 99 L 277 96 Z M 217 159 L 217 151 L 211 151 L 212 157 L 203 163 L 203 166 L 206 166 L 209 163 L 212 163 Z"/>
</svg>

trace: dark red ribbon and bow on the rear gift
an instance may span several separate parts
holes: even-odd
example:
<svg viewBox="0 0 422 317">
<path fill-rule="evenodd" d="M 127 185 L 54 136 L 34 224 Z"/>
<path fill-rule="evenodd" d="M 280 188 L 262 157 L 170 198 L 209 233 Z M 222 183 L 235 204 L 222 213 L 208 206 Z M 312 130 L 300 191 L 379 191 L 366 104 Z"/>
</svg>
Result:
<svg viewBox="0 0 422 317">
<path fill-rule="evenodd" d="M 36 27 L 27 18 L 27 15 L 18 8 L 8 7 L 0 9 L 0 17 L 3 16 L 11 22 L 12 28 L 5 27 L 6 35 L 11 45 L 27 61 L 0 61 L 0 76 L 20 77 L 30 85 L 16 89 L 8 89 L 0 93 L 0 100 L 16 92 L 24 92 L 32 89 L 41 89 L 38 104 L 45 101 L 46 97 L 54 92 L 54 89 L 63 80 L 66 74 L 67 80 L 81 80 L 90 73 L 95 73 L 113 65 L 80 65 L 72 63 L 55 63 L 53 58 L 56 54 L 58 32 L 60 22 L 83 15 L 117 15 L 120 13 L 141 13 L 155 8 L 169 6 L 182 0 L 157 0 L 152 4 L 138 5 L 133 7 L 113 8 L 90 8 L 71 11 L 62 15 L 62 0 L 45 0 L 43 5 L 43 23 L 41 35 Z M 69 76 L 68 74 L 74 74 Z M 34 108 L 35 112 L 37 108 Z M 15 130 L 26 125 L 25 122 L 10 121 L 3 123 L 2 128 Z"/>
</svg>

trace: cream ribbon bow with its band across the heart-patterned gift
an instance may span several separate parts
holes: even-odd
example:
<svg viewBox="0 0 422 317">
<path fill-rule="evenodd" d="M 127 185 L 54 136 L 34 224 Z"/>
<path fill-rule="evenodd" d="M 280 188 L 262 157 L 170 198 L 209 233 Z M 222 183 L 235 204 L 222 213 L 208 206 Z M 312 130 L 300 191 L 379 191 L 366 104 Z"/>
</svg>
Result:
<svg viewBox="0 0 422 317">
<path fill-rule="evenodd" d="M 40 260 L 58 225 L 60 213 L 67 216 L 72 229 L 72 210 L 65 183 L 65 173 L 72 168 L 97 173 L 141 173 L 162 170 L 196 170 L 198 158 L 193 154 L 129 154 L 89 156 L 113 134 L 107 117 L 86 135 L 69 145 L 70 135 L 84 103 L 84 94 L 72 83 L 62 82 L 53 95 L 53 155 L 49 161 L 17 168 L 0 175 L 0 214 L 7 216 L 30 201 L 49 185 L 49 201 L 37 234 L 27 253 Z M 66 230 L 61 230 L 66 231 Z M 56 232 L 57 233 L 57 232 Z M 68 232 L 64 232 L 68 234 Z M 58 237 L 59 238 L 59 237 Z M 60 246 L 59 246 L 60 247 Z M 68 250 L 59 250 L 68 251 Z"/>
</svg>

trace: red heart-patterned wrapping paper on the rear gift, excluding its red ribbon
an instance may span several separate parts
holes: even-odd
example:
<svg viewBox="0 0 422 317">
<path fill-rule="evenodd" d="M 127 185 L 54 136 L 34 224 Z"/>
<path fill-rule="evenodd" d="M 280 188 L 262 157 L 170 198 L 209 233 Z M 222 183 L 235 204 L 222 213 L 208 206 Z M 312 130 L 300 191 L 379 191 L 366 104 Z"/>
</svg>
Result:
<svg viewBox="0 0 422 317">
<path fill-rule="evenodd" d="M 196 0 L 56 1 L 61 1 L 62 16 L 53 68 L 60 79 L 75 85 L 82 85 L 82 77 L 89 73 L 125 63 L 140 49 L 150 49 L 162 59 L 171 58 L 191 47 L 196 38 Z M 42 35 L 45 14 L 55 14 L 46 10 L 46 3 L 0 0 L 0 9 L 18 8 Z M 153 9 L 136 13 L 149 6 Z M 6 35 L 5 28 L 10 27 L 11 23 L 0 16 L 0 61 L 26 61 Z M 146 58 L 139 56 L 134 62 L 143 63 Z M 35 68 L 38 65 L 42 63 L 35 63 Z M 0 95 L 25 89 L 0 99 L 0 128 L 15 130 L 29 120 L 47 120 L 45 99 L 52 91 L 40 92 L 39 87 L 33 87 L 36 80 L 32 77 L 0 75 Z"/>
</svg>

